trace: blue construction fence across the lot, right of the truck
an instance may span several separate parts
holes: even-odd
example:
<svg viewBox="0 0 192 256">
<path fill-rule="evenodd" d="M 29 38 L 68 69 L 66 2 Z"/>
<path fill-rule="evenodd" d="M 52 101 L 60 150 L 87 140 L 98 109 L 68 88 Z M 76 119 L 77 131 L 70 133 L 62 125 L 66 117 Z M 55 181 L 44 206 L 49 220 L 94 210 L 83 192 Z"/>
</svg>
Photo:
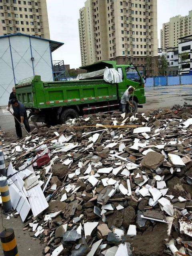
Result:
<svg viewBox="0 0 192 256">
<path fill-rule="evenodd" d="M 192 76 L 156 76 L 146 79 L 145 87 L 192 84 Z"/>
</svg>

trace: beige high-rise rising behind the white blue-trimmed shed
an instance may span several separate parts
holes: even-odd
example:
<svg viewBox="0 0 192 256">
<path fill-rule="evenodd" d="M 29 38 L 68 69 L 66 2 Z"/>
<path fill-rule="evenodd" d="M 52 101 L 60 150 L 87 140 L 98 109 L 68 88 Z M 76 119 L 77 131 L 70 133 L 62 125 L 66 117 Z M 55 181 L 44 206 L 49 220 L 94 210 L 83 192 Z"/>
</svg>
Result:
<svg viewBox="0 0 192 256">
<path fill-rule="evenodd" d="M 0 0 L 0 36 L 19 32 L 50 39 L 46 0 Z"/>
</svg>

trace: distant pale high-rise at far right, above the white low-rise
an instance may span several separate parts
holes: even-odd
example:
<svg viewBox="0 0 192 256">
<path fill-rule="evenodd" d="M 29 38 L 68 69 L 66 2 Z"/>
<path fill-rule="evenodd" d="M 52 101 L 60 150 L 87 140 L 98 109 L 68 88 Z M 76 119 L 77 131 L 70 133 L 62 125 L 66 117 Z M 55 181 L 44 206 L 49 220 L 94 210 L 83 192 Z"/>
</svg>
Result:
<svg viewBox="0 0 192 256">
<path fill-rule="evenodd" d="M 174 16 L 160 31 L 161 48 L 178 47 L 179 38 L 192 34 L 192 10 L 187 16 Z"/>
</svg>

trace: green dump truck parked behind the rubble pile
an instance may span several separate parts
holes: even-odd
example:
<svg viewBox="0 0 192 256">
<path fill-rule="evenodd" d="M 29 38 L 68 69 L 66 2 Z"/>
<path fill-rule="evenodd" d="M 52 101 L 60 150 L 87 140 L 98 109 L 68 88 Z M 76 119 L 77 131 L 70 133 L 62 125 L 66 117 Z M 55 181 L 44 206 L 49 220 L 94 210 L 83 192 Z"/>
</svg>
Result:
<svg viewBox="0 0 192 256">
<path fill-rule="evenodd" d="M 146 102 L 144 79 L 132 64 L 117 65 L 116 61 L 100 61 L 81 67 L 88 72 L 114 68 L 122 82 L 110 84 L 104 79 L 43 82 L 40 76 L 26 78 L 16 85 L 17 99 L 30 110 L 34 122 L 65 123 L 68 118 L 97 112 L 120 110 L 120 99 L 129 86 L 135 87 L 134 112 Z M 145 71 L 143 72 L 145 76 Z"/>
</svg>

